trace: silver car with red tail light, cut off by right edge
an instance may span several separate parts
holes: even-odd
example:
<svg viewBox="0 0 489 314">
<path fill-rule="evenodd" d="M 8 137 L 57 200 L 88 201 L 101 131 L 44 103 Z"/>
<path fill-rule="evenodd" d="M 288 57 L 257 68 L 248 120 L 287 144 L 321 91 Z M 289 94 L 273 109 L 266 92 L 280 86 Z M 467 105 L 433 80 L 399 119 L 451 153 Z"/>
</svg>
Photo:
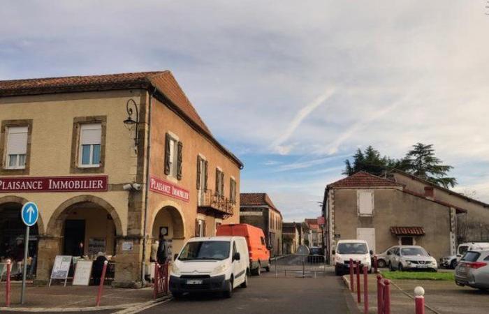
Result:
<svg viewBox="0 0 489 314">
<path fill-rule="evenodd" d="M 489 289 L 489 250 L 467 251 L 455 268 L 455 283 Z"/>
</svg>

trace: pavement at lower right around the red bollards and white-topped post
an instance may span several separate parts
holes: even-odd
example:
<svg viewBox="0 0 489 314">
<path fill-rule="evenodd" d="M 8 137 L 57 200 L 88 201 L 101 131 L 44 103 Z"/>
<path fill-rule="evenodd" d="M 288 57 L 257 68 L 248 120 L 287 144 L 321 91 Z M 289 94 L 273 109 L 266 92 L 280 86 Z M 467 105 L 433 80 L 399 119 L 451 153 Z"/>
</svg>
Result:
<svg viewBox="0 0 489 314">
<path fill-rule="evenodd" d="M 343 276 L 349 287 L 349 275 Z M 356 289 L 356 278 L 355 289 Z M 363 313 L 363 275 L 360 276 L 362 303 L 358 308 Z M 377 313 L 377 275 L 368 275 L 369 313 Z M 489 292 L 459 287 L 452 281 L 395 280 L 391 281 L 391 313 L 414 313 L 414 288 L 425 290 L 426 313 L 487 313 Z M 356 292 L 351 296 L 357 299 Z"/>
</svg>

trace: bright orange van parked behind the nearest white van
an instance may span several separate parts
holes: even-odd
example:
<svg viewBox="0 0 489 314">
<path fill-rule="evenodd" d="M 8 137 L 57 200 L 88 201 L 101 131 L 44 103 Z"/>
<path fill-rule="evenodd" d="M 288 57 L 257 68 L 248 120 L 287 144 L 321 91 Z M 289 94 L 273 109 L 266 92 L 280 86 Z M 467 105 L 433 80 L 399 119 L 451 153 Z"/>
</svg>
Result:
<svg viewBox="0 0 489 314">
<path fill-rule="evenodd" d="M 216 235 L 245 237 L 248 244 L 251 274 L 260 276 L 262 268 L 270 271 L 270 250 L 265 244 L 263 230 L 247 223 L 238 223 L 220 225 L 217 227 Z"/>
</svg>

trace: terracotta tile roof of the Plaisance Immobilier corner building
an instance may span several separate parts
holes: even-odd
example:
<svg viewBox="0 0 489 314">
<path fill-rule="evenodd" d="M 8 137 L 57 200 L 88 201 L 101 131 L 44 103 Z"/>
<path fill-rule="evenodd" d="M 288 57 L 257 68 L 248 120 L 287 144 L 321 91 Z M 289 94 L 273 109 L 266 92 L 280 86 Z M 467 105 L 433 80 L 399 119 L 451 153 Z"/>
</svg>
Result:
<svg viewBox="0 0 489 314">
<path fill-rule="evenodd" d="M 189 124 L 194 124 L 214 144 L 217 144 L 224 154 L 242 167 L 241 160 L 217 142 L 169 70 L 0 81 L 0 97 L 115 89 L 147 89 L 150 92 L 156 89 L 163 98 L 169 100 L 166 104 L 168 107 L 172 107 L 177 114 L 187 118 Z"/>
</svg>

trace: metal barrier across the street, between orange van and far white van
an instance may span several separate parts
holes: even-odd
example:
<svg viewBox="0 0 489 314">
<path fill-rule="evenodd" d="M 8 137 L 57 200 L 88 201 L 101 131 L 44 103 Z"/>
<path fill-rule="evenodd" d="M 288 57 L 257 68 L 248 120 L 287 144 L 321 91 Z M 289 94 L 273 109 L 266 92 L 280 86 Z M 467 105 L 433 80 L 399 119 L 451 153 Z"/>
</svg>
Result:
<svg viewBox="0 0 489 314">
<path fill-rule="evenodd" d="M 283 255 L 271 262 L 275 276 L 314 277 L 326 274 L 324 255 Z"/>
</svg>

